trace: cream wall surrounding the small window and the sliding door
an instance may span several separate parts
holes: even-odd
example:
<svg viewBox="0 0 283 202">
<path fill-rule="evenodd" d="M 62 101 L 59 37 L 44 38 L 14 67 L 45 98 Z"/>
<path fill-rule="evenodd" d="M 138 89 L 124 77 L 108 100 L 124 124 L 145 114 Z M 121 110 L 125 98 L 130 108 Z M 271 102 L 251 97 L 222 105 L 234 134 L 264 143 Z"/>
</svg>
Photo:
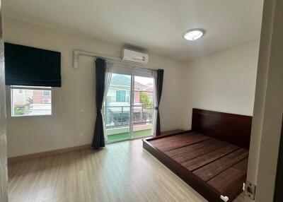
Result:
<svg viewBox="0 0 283 202">
<path fill-rule="evenodd" d="M 54 89 L 52 117 L 12 118 L 10 93 L 6 91 L 8 157 L 90 144 L 96 114 L 94 61 L 91 57 L 80 57 L 79 69 L 72 69 L 72 51 L 83 49 L 120 57 L 122 47 L 12 18 L 4 18 L 4 31 L 6 42 L 62 53 L 62 88 Z M 160 107 L 161 129 L 178 129 L 182 119 L 179 99 L 182 64 L 151 54 L 149 67 L 165 71 Z M 79 114 L 79 108 L 83 108 L 84 112 Z M 85 136 L 78 138 L 78 133 Z"/>
</svg>

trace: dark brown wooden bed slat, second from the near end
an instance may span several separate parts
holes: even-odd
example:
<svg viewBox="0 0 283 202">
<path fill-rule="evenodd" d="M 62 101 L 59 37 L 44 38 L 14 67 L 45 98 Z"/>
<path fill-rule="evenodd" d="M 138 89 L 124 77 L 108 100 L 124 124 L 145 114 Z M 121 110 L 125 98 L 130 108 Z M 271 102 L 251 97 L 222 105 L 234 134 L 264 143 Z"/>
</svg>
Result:
<svg viewBox="0 0 283 202">
<path fill-rule="evenodd" d="M 248 150 L 245 148 L 240 148 L 229 155 L 225 155 L 214 162 L 211 162 L 199 169 L 195 170 L 193 173 L 196 174 L 198 177 L 203 179 L 204 181 L 208 181 L 212 179 L 216 174 L 223 172 L 227 168 L 231 167 L 232 165 L 240 162 L 244 158 L 248 157 Z"/>
</svg>

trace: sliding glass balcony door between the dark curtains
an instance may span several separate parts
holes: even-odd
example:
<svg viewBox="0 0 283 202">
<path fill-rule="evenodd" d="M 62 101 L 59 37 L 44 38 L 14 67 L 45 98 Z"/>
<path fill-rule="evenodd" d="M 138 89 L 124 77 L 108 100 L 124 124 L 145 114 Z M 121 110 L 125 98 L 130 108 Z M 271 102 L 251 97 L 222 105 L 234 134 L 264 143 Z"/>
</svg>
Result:
<svg viewBox="0 0 283 202">
<path fill-rule="evenodd" d="M 151 136 L 154 79 L 112 73 L 104 103 L 108 143 Z"/>
</svg>

